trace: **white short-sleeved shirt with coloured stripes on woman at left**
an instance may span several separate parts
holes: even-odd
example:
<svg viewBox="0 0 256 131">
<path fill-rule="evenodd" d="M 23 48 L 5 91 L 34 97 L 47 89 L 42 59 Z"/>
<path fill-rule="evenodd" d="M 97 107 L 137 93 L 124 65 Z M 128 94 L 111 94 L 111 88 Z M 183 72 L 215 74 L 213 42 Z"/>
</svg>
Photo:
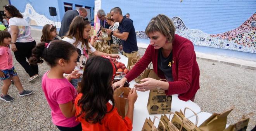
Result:
<svg viewBox="0 0 256 131">
<path fill-rule="evenodd" d="M 34 39 L 31 37 L 30 26 L 24 18 L 10 18 L 8 32 L 11 35 L 12 31 L 10 28 L 12 28 L 12 25 L 16 25 L 19 31 L 16 42 L 26 43 L 34 41 Z"/>
</svg>

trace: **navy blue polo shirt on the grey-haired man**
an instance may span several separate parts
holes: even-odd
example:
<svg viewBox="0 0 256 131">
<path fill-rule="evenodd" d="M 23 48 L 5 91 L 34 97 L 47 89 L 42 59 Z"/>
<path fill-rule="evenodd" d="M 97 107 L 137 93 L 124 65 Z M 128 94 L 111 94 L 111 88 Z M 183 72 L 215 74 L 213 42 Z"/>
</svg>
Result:
<svg viewBox="0 0 256 131">
<path fill-rule="evenodd" d="M 123 20 L 119 23 L 118 30 L 121 34 L 123 32 L 129 33 L 126 40 L 121 40 L 124 52 L 131 53 L 133 51 L 138 51 L 136 33 L 131 20 L 124 17 Z"/>
</svg>

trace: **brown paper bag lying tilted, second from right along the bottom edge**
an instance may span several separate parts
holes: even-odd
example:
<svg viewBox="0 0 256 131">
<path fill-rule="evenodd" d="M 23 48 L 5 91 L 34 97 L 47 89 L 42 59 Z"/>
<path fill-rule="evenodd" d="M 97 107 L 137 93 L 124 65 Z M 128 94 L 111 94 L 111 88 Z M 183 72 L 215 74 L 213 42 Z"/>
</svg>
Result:
<svg viewBox="0 0 256 131">
<path fill-rule="evenodd" d="M 234 106 L 220 114 L 214 113 L 199 126 L 199 129 L 201 131 L 223 131 L 226 128 L 227 116 L 233 109 Z"/>
</svg>

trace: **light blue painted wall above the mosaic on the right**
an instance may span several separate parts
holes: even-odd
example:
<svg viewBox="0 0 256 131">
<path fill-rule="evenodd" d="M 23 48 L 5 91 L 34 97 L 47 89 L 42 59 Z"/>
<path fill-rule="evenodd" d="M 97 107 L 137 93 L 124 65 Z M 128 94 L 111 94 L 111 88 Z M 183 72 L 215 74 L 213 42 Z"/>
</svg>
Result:
<svg viewBox="0 0 256 131">
<path fill-rule="evenodd" d="M 135 30 L 145 31 L 150 19 L 159 13 L 180 17 L 189 29 L 219 34 L 240 26 L 256 12 L 256 0 L 101 0 L 109 12 L 120 7 L 123 15 L 130 13 Z"/>
</svg>

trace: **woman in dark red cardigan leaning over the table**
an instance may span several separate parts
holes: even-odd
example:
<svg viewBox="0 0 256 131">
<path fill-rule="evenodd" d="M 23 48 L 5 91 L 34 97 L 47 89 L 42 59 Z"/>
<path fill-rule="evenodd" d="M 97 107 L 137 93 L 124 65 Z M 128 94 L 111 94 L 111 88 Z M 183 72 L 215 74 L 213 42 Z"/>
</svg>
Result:
<svg viewBox="0 0 256 131">
<path fill-rule="evenodd" d="M 175 34 L 173 22 L 163 14 L 151 19 L 145 33 L 150 38 L 150 44 L 144 56 L 113 86 L 123 86 L 125 81 L 132 81 L 152 62 L 157 76 L 168 82 L 145 78 L 141 80 L 142 84 L 135 84 L 138 91 L 160 87 L 166 95 L 178 94 L 178 98 L 183 101 L 194 101 L 199 89 L 199 67 L 192 42 Z"/>
</svg>

